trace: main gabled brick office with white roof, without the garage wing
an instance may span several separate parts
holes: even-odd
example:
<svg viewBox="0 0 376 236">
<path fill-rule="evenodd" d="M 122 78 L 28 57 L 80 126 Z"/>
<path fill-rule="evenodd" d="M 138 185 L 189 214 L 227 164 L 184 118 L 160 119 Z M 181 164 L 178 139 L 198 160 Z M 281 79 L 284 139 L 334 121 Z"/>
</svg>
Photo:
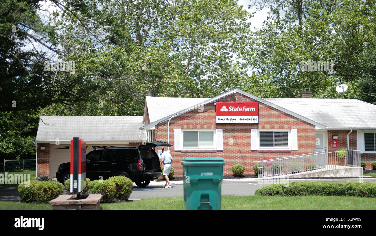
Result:
<svg viewBox="0 0 376 236">
<path fill-rule="evenodd" d="M 261 99 L 240 89 L 214 98 L 146 97 L 141 129 L 150 141 L 173 145 L 176 176 L 182 176 L 180 161 L 186 157 L 222 157 L 225 175 L 232 175 L 234 164 L 253 174 L 254 161 L 343 148 L 359 150 L 366 169 L 371 169 L 376 160 L 376 106 L 356 99 L 312 99 L 309 91 L 302 97 Z M 231 116 L 227 123 L 218 120 L 223 105 L 242 109 L 247 103 L 258 107 L 258 113 L 249 116 L 257 120 L 240 120 L 247 112 L 233 116 L 237 121 Z"/>
</svg>

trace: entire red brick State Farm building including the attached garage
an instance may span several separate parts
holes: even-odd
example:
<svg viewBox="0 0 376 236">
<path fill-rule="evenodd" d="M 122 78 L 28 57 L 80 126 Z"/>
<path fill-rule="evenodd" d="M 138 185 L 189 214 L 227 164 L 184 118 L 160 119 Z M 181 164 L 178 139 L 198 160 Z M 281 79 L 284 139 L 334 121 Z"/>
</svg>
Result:
<svg viewBox="0 0 376 236">
<path fill-rule="evenodd" d="M 186 157 L 222 157 L 225 175 L 232 174 L 234 164 L 253 174 L 254 161 L 343 148 L 359 150 L 366 169 L 371 169 L 376 160 L 376 105 L 312 99 L 309 91 L 302 97 L 261 99 L 235 89 L 213 98 L 148 96 L 142 117 L 41 117 L 37 174 L 53 176 L 59 163 L 69 161 L 65 144 L 73 136 L 86 141 L 87 152 L 101 146 L 136 146 L 144 140 L 169 142 L 177 177 Z M 79 124 L 86 125 L 77 128 Z M 56 151 L 62 149 L 67 153 Z"/>
</svg>

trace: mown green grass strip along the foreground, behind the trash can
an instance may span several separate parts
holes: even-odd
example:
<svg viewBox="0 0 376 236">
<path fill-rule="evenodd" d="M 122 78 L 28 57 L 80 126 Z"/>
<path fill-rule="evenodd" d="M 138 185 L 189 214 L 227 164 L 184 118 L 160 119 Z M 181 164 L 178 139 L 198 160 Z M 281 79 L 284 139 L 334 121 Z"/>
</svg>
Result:
<svg viewBox="0 0 376 236">
<path fill-rule="evenodd" d="M 127 203 L 102 203 L 103 210 L 183 210 L 183 197 L 150 198 Z M 0 201 L 0 210 L 48 210 L 49 204 Z M 223 210 L 376 210 L 376 198 L 351 196 L 222 196 Z"/>
</svg>

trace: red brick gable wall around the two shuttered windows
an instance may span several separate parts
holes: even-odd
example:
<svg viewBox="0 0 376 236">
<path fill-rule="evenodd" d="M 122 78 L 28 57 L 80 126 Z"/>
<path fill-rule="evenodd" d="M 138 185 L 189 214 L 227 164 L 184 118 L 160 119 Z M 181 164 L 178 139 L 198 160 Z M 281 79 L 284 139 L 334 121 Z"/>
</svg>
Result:
<svg viewBox="0 0 376 236">
<path fill-rule="evenodd" d="M 257 102 L 249 97 L 236 94 L 237 101 Z M 233 99 L 234 95 L 230 95 Z M 222 101 L 228 101 L 226 98 Z M 233 101 L 233 100 L 232 100 Z M 170 143 L 174 145 L 174 129 L 223 129 L 223 151 L 174 151 L 170 147 L 171 155 L 174 158 L 172 164 L 175 176 L 182 176 L 182 165 L 180 161 L 186 157 L 222 157 L 226 162 L 224 175 L 232 175 L 231 167 L 234 164 L 246 166 L 245 174 L 254 174 L 253 161 L 265 160 L 277 157 L 315 152 L 315 126 L 293 117 L 287 113 L 276 110 L 265 104 L 259 103 L 258 124 L 225 124 L 215 123 L 214 103 L 204 105 L 203 109 L 192 110 L 188 113 L 177 116 L 170 121 Z M 298 129 L 298 150 L 297 151 L 251 151 L 251 129 Z M 154 140 L 167 142 L 167 121 L 156 126 Z M 161 148 L 155 148 L 156 152 Z"/>
</svg>

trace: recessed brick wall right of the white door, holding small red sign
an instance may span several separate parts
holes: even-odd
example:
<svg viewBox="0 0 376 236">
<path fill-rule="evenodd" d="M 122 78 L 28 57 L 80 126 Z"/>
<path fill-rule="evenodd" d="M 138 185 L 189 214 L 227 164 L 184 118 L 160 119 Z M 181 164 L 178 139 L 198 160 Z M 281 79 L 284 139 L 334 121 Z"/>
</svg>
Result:
<svg viewBox="0 0 376 236">
<path fill-rule="evenodd" d="M 338 151 L 339 149 L 346 148 L 347 149 L 347 134 L 350 132 L 349 130 L 328 130 L 328 152 Z M 332 148 L 332 136 L 338 135 L 338 142 L 337 148 Z M 352 133 L 349 135 L 349 148 L 350 150 L 357 150 L 357 137 L 356 137 L 356 130 L 353 130 Z M 365 169 L 372 169 L 371 162 L 376 161 L 376 153 L 362 153 L 360 155 L 360 160 L 365 161 L 367 166 Z"/>
</svg>

